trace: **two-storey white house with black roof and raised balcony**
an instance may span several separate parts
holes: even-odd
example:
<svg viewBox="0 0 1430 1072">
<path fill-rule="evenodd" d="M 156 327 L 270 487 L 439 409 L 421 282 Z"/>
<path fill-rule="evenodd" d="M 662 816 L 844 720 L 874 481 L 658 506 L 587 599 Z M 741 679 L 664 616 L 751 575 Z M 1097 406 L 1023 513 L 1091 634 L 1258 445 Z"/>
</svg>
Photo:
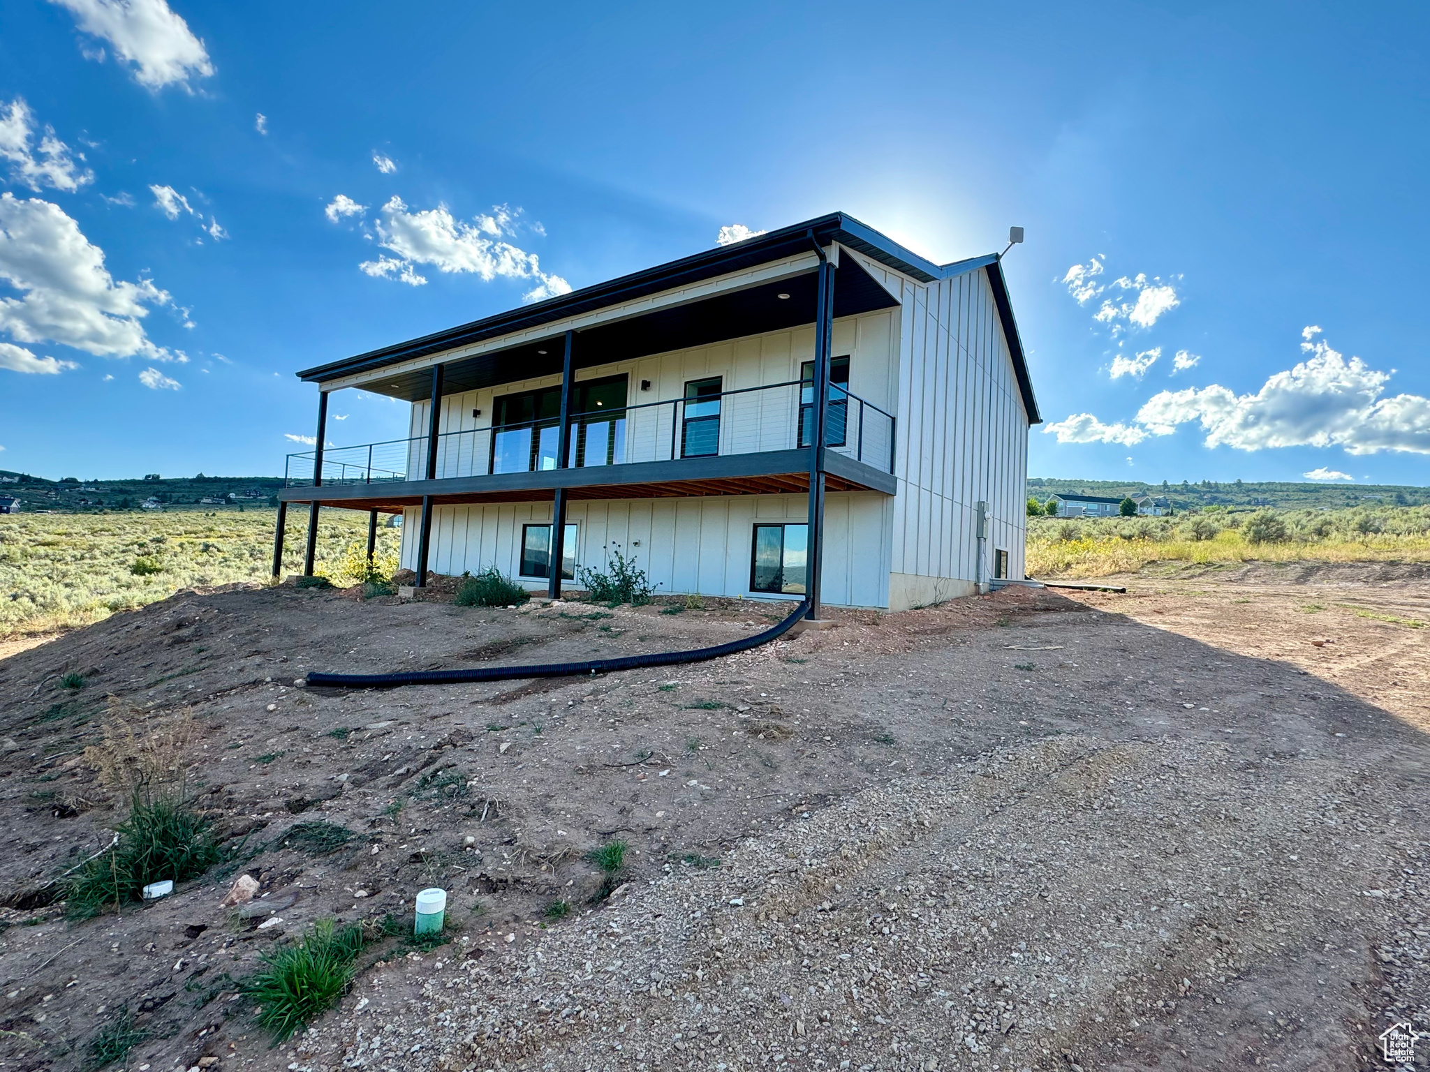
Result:
<svg viewBox="0 0 1430 1072">
<path fill-rule="evenodd" d="M 418 585 L 559 595 L 619 549 L 658 592 L 817 617 L 1024 576 L 1041 417 L 1000 254 L 935 264 L 834 213 L 299 377 L 319 446 L 287 457 L 275 575 L 306 503 L 400 513 Z M 410 403 L 408 437 L 327 446 L 349 389 Z"/>
</svg>

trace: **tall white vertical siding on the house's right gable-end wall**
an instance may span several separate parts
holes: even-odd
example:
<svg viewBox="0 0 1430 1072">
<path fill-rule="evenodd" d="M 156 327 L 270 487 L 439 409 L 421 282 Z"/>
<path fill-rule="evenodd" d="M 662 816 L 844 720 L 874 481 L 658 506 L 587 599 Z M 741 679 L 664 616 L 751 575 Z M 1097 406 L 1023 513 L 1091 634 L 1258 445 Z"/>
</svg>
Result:
<svg viewBox="0 0 1430 1072">
<path fill-rule="evenodd" d="M 980 502 L 988 505 L 981 577 L 992 576 L 997 549 L 1008 552 L 1008 576 L 1021 577 L 1028 413 L 987 273 L 918 283 L 858 260 L 901 303 L 889 607 L 974 592 Z"/>
</svg>

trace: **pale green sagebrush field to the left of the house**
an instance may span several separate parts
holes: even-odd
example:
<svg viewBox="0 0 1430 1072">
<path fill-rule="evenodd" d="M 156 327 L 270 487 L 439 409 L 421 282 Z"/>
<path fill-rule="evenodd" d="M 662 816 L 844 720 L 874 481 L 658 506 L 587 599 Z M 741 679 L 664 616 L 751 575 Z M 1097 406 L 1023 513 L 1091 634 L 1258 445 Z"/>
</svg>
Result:
<svg viewBox="0 0 1430 1072">
<path fill-rule="evenodd" d="M 265 583 L 277 510 L 0 516 L 0 639 L 89 625 L 179 589 Z M 307 515 L 290 512 L 283 573 L 300 573 Z M 399 529 L 378 530 L 379 570 L 396 569 Z M 315 572 L 362 580 L 368 516 L 326 510 Z"/>
</svg>

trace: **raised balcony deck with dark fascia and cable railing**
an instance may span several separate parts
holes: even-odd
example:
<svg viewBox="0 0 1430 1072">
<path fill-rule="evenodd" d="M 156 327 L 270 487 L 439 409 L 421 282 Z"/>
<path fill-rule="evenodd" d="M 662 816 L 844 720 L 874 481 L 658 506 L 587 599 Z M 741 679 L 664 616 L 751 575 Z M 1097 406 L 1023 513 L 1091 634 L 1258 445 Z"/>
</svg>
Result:
<svg viewBox="0 0 1430 1072">
<path fill-rule="evenodd" d="M 805 392 L 802 396 L 801 392 Z M 711 419 L 718 405 L 718 430 Z M 428 437 L 289 455 L 283 502 L 349 509 L 400 510 L 425 496 L 436 503 L 539 502 L 565 489 L 569 499 L 656 499 L 722 495 L 805 493 L 809 447 L 801 446 L 799 382 L 578 413 L 569 457 L 555 467 L 555 422 L 466 429 L 438 436 L 433 479 Z M 827 490 L 894 495 L 894 417 L 842 387 L 831 389 L 824 467 Z M 692 416 L 694 415 L 694 416 Z M 691 429 L 716 453 L 682 457 Z M 595 459 L 595 460 L 592 460 Z M 315 465 L 322 483 L 313 485 Z M 515 470 L 515 472 L 513 472 Z"/>
</svg>

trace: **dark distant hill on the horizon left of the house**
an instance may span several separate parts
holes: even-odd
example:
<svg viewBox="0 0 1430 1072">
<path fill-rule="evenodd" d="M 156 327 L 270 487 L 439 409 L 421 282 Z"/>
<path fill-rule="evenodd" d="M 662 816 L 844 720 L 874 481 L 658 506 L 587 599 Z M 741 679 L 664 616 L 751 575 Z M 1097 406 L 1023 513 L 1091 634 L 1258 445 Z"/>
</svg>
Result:
<svg viewBox="0 0 1430 1072">
<path fill-rule="evenodd" d="M 133 480 L 80 480 L 0 469 L 0 496 L 20 500 L 21 513 L 97 513 L 104 510 L 142 510 L 146 500 L 163 509 L 237 510 L 277 505 L 277 476 L 190 476 L 162 479 L 157 475 Z M 207 500 L 207 502 L 204 502 Z"/>
</svg>

